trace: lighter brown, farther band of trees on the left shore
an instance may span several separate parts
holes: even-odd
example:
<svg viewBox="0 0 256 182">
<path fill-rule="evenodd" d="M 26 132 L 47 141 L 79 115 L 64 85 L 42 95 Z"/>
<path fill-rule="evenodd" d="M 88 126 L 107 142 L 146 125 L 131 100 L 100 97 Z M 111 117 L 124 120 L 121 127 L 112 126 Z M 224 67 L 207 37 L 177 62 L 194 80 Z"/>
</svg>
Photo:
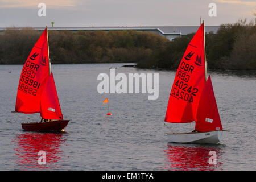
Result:
<svg viewBox="0 0 256 182">
<path fill-rule="evenodd" d="M 0 64 L 24 64 L 42 31 L 7 28 L 0 34 Z M 168 42 L 162 36 L 133 30 L 48 31 L 51 62 L 125 63 L 148 60 Z"/>
</svg>

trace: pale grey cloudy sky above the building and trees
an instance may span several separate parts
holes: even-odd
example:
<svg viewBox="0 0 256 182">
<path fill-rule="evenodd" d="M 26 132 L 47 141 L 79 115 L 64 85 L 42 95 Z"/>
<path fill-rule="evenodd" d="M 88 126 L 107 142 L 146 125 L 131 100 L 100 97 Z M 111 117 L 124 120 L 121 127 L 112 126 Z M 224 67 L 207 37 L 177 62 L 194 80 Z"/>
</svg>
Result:
<svg viewBox="0 0 256 182">
<path fill-rule="evenodd" d="M 0 0 L 0 27 L 218 26 L 254 13 L 256 0 Z"/>
</svg>

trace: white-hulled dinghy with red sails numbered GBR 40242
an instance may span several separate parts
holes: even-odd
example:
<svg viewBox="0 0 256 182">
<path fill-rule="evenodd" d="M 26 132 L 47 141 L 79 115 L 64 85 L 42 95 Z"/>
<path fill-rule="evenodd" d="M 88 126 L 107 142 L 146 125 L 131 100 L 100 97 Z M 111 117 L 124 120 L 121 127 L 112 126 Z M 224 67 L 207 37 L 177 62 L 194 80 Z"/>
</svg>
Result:
<svg viewBox="0 0 256 182">
<path fill-rule="evenodd" d="M 181 59 L 168 101 L 166 122 L 196 122 L 189 133 L 168 133 L 169 142 L 219 143 L 228 133 L 222 129 L 213 92 L 207 78 L 204 22 L 193 36 Z"/>
</svg>

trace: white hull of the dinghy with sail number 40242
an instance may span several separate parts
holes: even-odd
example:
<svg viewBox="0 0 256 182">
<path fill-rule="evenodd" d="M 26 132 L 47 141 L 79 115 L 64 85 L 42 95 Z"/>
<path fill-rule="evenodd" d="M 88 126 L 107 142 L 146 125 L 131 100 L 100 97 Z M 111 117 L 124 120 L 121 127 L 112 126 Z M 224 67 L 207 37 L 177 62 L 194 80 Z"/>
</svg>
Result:
<svg viewBox="0 0 256 182">
<path fill-rule="evenodd" d="M 217 144 L 222 141 L 228 132 L 227 130 L 216 130 L 208 132 L 167 133 L 167 135 L 168 142 Z"/>
</svg>

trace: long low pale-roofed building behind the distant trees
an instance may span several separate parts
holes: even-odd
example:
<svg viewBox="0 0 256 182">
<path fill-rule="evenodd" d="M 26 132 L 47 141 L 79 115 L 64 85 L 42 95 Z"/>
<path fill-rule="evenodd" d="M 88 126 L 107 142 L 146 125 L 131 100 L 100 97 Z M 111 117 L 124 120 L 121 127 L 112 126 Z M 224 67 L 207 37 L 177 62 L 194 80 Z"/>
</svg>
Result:
<svg viewBox="0 0 256 182">
<path fill-rule="evenodd" d="M 94 31 L 94 30 L 137 30 L 158 34 L 169 40 L 196 32 L 199 26 L 139 26 L 139 27 L 48 27 L 48 30 Z M 205 32 L 216 33 L 220 26 L 205 26 Z M 0 28 L 4 31 L 6 28 Z M 44 27 L 35 27 L 35 30 L 44 30 Z"/>
</svg>

